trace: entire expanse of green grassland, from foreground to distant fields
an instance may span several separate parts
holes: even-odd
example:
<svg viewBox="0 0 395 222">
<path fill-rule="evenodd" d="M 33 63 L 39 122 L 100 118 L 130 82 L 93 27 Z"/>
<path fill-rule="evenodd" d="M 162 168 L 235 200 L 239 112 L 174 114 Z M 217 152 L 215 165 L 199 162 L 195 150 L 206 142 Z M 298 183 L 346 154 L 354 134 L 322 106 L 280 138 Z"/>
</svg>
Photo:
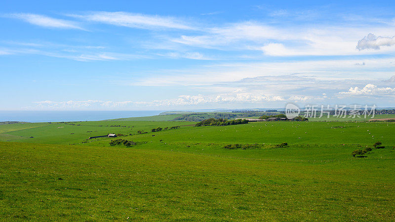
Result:
<svg viewBox="0 0 395 222">
<path fill-rule="evenodd" d="M 395 123 L 72 124 L 0 125 L 0 140 L 11 140 L 0 142 L 0 218 L 395 220 Z M 181 128 L 150 131 L 171 126 Z M 86 140 L 110 132 L 137 145 Z M 385 148 L 351 155 L 377 141 Z M 289 146 L 273 148 L 282 142 Z M 260 148 L 223 148 L 255 143 Z"/>
</svg>

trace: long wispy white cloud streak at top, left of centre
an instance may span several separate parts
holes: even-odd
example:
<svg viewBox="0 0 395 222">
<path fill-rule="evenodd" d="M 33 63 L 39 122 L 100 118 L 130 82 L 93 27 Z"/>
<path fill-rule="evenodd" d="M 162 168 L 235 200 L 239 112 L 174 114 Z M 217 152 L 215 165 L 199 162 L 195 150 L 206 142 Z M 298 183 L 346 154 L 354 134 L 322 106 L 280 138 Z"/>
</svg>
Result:
<svg viewBox="0 0 395 222">
<path fill-rule="evenodd" d="M 193 29 L 183 21 L 170 16 L 144 15 L 128 12 L 106 12 L 97 11 L 83 15 L 71 14 L 68 16 L 85 19 L 87 21 L 100 22 L 105 24 L 125 26 L 138 29 Z"/>
</svg>

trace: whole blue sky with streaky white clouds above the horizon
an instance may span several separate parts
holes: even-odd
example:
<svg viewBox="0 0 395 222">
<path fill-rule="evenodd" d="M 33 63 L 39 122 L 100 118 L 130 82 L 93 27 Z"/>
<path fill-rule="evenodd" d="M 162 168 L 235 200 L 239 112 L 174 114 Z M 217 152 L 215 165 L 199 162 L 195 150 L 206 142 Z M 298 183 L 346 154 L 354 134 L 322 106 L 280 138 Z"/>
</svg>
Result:
<svg viewBox="0 0 395 222">
<path fill-rule="evenodd" d="M 392 1 L 0 2 L 0 110 L 395 107 Z"/>
</svg>

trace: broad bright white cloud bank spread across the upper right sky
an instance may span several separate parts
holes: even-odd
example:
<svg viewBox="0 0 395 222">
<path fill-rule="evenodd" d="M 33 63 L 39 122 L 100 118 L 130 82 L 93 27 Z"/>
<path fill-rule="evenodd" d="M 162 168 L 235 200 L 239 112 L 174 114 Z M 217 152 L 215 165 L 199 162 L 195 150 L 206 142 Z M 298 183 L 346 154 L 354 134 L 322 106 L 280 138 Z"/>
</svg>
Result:
<svg viewBox="0 0 395 222">
<path fill-rule="evenodd" d="M 181 35 L 171 38 L 172 42 L 186 46 L 220 50 L 263 50 L 269 56 L 326 56 L 326 55 L 367 55 L 375 51 L 360 51 L 356 41 L 366 29 L 379 33 L 391 33 L 395 26 L 359 27 L 349 26 L 275 26 L 246 21 L 219 27 L 204 27 L 203 35 Z M 382 45 L 389 45 L 389 37 L 378 37 Z M 362 39 L 363 40 L 363 39 Z M 360 40 L 360 41 L 362 41 Z M 362 41 L 363 42 L 363 41 Z M 362 42 L 358 43 L 362 47 Z M 394 49 L 386 49 L 393 52 Z"/>
</svg>

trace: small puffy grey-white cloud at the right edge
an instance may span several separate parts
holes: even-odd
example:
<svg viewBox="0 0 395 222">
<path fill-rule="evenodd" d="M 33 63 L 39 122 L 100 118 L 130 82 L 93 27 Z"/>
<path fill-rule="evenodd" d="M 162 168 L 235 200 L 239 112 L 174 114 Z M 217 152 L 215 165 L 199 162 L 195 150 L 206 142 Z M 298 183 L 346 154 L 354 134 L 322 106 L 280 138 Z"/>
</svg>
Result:
<svg viewBox="0 0 395 222">
<path fill-rule="evenodd" d="M 356 48 L 358 50 L 363 49 L 375 49 L 379 50 L 382 46 L 392 46 L 395 45 L 395 36 L 394 37 L 377 37 L 371 33 L 369 35 L 363 37 L 356 44 Z"/>
</svg>

